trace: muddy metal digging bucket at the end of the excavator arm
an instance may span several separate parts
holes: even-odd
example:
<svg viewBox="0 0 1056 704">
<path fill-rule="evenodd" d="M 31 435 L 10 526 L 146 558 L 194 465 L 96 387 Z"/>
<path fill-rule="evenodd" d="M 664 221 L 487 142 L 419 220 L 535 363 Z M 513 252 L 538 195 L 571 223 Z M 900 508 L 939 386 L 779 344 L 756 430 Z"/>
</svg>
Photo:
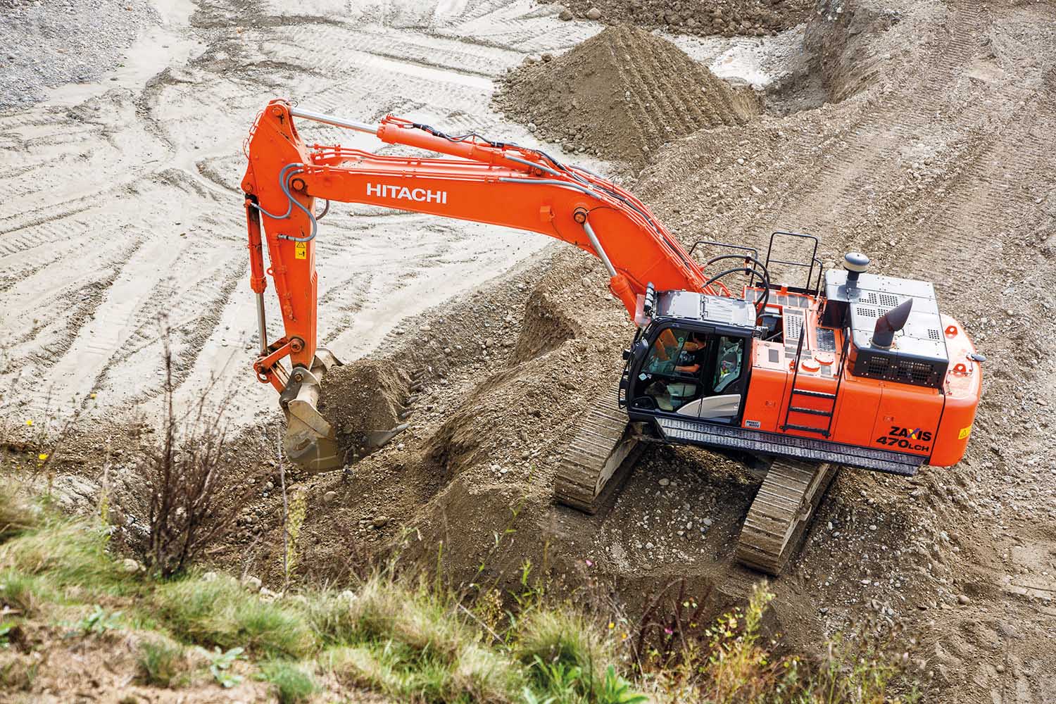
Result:
<svg viewBox="0 0 1056 704">
<path fill-rule="evenodd" d="M 323 376 L 341 362 L 327 349 L 317 349 L 312 368 L 296 367 L 279 397 L 286 414 L 283 449 L 289 459 L 308 472 L 336 470 L 343 463 L 337 432 L 319 413 Z"/>
</svg>

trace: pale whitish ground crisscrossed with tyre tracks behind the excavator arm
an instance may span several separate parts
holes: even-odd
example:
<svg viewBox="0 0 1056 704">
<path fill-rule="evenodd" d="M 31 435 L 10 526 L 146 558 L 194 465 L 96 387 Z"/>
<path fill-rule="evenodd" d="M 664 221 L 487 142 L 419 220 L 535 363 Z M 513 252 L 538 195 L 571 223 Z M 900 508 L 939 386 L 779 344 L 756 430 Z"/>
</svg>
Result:
<svg viewBox="0 0 1056 704">
<path fill-rule="evenodd" d="M 182 394 L 191 397 L 215 378 L 245 389 L 242 418 L 275 408 L 274 393 L 248 370 L 256 317 L 243 282 L 237 190 L 239 147 L 262 96 L 293 94 L 365 119 L 411 108 L 438 126 L 512 132 L 530 144 L 523 128 L 491 112 L 491 78 L 521 61 L 524 40 L 565 47 L 590 32 L 577 23 L 570 33 L 524 0 L 408 4 L 395 15 L 331 4 L 285 15 L 281 3 L 262 9 L 199 2 L 190 26 L 173 27 L 197 46 L 186 61 L 140 85 L 105 83 L 70 108 L 38 104 L 0 115 L 0 285 L 15 301 L 0 323 L 17 340 L 0 385 L 33 378 L 51 389 L 20 393 L 4 408 L 17 403 L 33 415 L 52 399 L 92 392 L 109 402 L 97 413 L 150 399 L 163 313 L 175 329 Z M 477 41 L 467 23 L 491 27 L 486 34 L 493 36 Z M 303 129 L 319 140 L 379 149 L 347 132 Z M 340 210 L 320 241 L 320 294 L 327 302 L 321 334 L 346 359 L 377 344 L 402 316 L 487 280 L 547 242 L 501 240 L 497 228 L 474 226 L 452 243 L 452 230 L 427 216 L 383 218 L 353 208 L 362 217 L 350 226 Z M 33 289 L 42 281 L 67 298 L 39 296 Z M 93 292 L 91 305 L 78 299 L 71 308 L 69 297 L 84 290 Z M 77 312 L 32 323 L 56 306 Z M 277 310 L 269 313 L 277 337 Z M 136 396 L 129 386 L 146 391 Z"/>
</svg>

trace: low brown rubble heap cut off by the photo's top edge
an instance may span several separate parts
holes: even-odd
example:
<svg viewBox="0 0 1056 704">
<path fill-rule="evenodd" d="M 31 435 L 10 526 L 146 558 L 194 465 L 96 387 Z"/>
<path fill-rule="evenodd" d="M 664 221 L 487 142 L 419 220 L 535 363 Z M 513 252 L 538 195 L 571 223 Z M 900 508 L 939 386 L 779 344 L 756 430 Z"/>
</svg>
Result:
<svg viewBox="0 0 1056 704">
<path fill-rule="evenodd" d="M 545 0 L 553 1 L 553 0 Z M 663 27 L 678 34 L 720 34 L 763 37 L 805 21 L 813 3 L 786 0 L 720 0 L 719 2 L 671 2 L 671 0 L 562 0 L 569 7 L 564 17 L 597 19 L 611 24 L 633 22 Z"/>
</svg>

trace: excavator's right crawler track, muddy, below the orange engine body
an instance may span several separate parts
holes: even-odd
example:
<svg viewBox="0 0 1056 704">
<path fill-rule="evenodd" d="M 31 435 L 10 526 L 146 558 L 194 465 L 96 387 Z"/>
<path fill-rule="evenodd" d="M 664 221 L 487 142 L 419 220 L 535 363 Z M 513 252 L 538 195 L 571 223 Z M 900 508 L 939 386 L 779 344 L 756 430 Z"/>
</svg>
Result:
<svg viewBox="0 0 1056 704">
<path fill-rule="evenodd" d="M 748 511 L 737 562 L 777 576 L 810 526 L 840 467 L 777 458 Z"/>
</svg>

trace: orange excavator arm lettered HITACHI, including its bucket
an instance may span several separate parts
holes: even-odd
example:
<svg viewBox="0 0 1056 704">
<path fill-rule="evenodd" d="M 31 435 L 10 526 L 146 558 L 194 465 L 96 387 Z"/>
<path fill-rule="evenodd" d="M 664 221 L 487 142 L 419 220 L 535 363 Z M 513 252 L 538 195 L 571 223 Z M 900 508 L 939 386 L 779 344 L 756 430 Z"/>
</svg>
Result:
<svg viewBox="0 0 1056 704">
<path fill-rule="evenodd" d="M 295 118 L 455 158 L 379 156 L 340 145 L 308 145 Z M 634 195 L 539 150 L 476 134 L 451 136 L 392 116 L 374 127 L 272 100 L 250 131 L 246 156 L 242 188 L 261 341 L 254 369 L 280 393 L 288 421 L 287 454 L 309 469 L 341 464 L 334 430 L 316 408 L 322 375 L 338 363 L 317 347 L 316 329 L 315 245 L 319 220 L 331 202 L 489 223 L 562 240 L 601 260 L 610 290 L 631 319 L 649 283 L 660 290 L 713 292 L 701 269 Z M 317 214 L 320 199 L 326 206 Z M 285 336 L 270 343 L 264 313 L 268 275 L 285 326 Z M 281 364 L 285 357 L 290 358 L 289 372 Z"/>
</svg>

